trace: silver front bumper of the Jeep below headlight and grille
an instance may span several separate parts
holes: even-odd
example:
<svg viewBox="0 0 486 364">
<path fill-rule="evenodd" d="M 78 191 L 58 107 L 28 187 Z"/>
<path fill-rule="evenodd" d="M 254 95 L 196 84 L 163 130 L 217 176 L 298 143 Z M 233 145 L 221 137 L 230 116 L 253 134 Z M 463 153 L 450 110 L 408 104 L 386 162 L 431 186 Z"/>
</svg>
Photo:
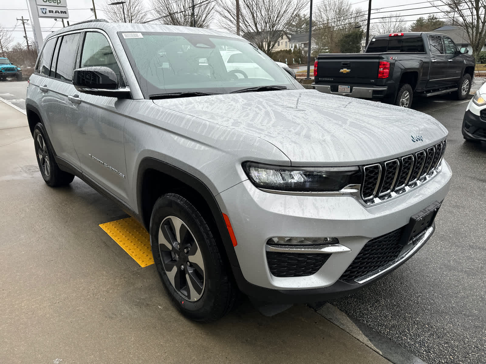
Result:
<svg viewBox="0 0 486 364">
<path fill-rule="evenodd" d="M 311 302 L 330 299 L 380 279 L 409 259 L 417 248 L 401 256 L 380 274 L 366 281 L 342 281 L 340 277 L 371 239 L 406 226 L 412 215 L 442 201 L 448 190 L 451 169 L 444 161 L 442 171 L 416 190 L 365 207 L 349 196 L 295 196 L 268 193 L 244 181 L 217 195 L 221 210 L 231 221 L 238 245 L 234 248 L 241 268 L 242 291 L 266 301 Z M 301 277 L 277 277 L 267 260 L 268 239 L 275 236 L 336 237 L 346 252 L 332 253 L 316 273 Z M 292 263 L 289 263 L 292 264 Z M 376 273 L 376 272 L 375 272 Z"/>
</svg>

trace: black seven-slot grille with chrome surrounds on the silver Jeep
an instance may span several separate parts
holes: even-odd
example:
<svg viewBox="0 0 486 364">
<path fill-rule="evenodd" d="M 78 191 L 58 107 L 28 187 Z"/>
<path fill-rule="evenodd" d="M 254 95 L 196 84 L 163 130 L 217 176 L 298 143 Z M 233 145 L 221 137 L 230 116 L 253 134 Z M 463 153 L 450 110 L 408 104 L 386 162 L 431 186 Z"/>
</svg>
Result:
<svg viewBox="0 0 486 364">
<path fill-rule="evenodd" d="M 361 198 L 366 205 L 397 197 L 429 181 L 440 171 L 446 140 L 427 149 L 363 166 Z"/>
</svg>

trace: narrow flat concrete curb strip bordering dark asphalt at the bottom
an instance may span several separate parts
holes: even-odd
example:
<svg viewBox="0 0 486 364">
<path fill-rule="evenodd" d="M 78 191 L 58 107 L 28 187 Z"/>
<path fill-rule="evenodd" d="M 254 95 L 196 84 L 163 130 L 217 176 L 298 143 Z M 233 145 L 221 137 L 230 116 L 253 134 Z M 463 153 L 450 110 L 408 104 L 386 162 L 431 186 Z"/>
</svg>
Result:
<svg viewBox="0 0 486 364">
<path fill-rule="evenodd" d="M 326 303 L 323 306 L 318 305 L 316 307 L 310 307 L 314 309 L 317 314 L 320 314 L 338 328 L 346 331 L 349 335 L 361 341 L 364 345 L 376 351 L 383 358 L 394 364 L 427 364 L 422 359 L 386 338 L 378 331 L 348 317 L 347 314 L 330 303 Z"/>
</svg>

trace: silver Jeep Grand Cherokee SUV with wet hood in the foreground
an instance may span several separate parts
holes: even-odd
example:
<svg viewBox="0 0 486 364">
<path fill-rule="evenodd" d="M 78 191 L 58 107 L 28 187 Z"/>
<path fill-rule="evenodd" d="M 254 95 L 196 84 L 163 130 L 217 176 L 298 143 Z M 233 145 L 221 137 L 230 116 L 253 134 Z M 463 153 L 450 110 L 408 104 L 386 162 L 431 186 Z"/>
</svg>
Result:
<svg viewBox="0 0 486 364">
<path fill-rule="evenodd" d="M 207 29 L 63 28 L 26 104 L 45 182 L 77 176 L 137 218 L 168 294 L 198 321 L 238 291 L 312 302 L 380 279 L 430 238 L 451 179 L 434 118 L 305 90 Z"/>
</svg>

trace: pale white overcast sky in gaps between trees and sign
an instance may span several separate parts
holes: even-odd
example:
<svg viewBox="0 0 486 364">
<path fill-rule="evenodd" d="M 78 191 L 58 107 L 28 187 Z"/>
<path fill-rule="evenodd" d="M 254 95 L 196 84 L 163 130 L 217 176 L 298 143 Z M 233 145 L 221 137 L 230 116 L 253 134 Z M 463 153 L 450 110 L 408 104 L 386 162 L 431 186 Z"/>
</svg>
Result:
<svg viewBox="0 0 486 364">
<path fill-rule="evenodd" d="M 151 0 L 140 0 L 144 2 L 147 10 L 152 9 Z M 313 11 L 319 7 L 322 2 L 329 2 L 330 0 L 314 0 Z M 94 15 L 90 8 L 92 5 L 92 0 L 67 0 L 69 9 L 69 22 L 76 23 L 78 21 L 94 19 Z M 110 1 L 111 2 L 111 1 Z M 368 0 L 350 0 L 351 3 L 355 4 L 355 7 L 362 9 L 367 9 Z M 95 5 L 97 7 L 97 16 L 99 18 L 105 17 L 101 6 L 106 3 L 106 0 L 95 0 Z M 414 9 L 429 6 L 424 9 Z M 427 17 L 428 14 L 436 12 L 437 10 L 430 7 L 430 3 L 424 0 L 372 0 L 371 3 L 371 22 L 380 21 L 380 17 L 383 17 L 381 21 L 389 21 L 390 19 L 384 18 L 389 17 L 392 13 L 399 12 L 402 17 L 407 21 L 414 21 L 417 17 Z M 16 10 L 12 10 L 16 9 Z M 17 10 L 18 9 L 18 10 Z M 34 12 L 36 10 L 34 9 Z M 424 14 L 424 15 L 419 15 Z M 439 14 L 436 14 L 440 17 Z M 17 18 L 24 17 L 30 19 L 29 12 L 27 10 L 27 0 L 0 0 L 0 26 L 11 30 L 15 37 L 14 43 L 21 42 L 25 45 L 25 39 L 23 38 L 23 28 L 22 23 L 17 21 Z M 375 19 L 373 19 L 375 18 Z M 30 22 L 29 22 L 30 24 Z M 40 26 L 43 30 L 43 36 L 45 37 L 48 33 L 62 28 L 62 23 L 60 20 L 55 21 L 54 19 L 40 19 Z M 211 28 L 221 29 L 218 19 L 214 19 Z M 32 28 L 30 25 L 26 26 L 27 35 L 33 38 Z"/>
</svg>

